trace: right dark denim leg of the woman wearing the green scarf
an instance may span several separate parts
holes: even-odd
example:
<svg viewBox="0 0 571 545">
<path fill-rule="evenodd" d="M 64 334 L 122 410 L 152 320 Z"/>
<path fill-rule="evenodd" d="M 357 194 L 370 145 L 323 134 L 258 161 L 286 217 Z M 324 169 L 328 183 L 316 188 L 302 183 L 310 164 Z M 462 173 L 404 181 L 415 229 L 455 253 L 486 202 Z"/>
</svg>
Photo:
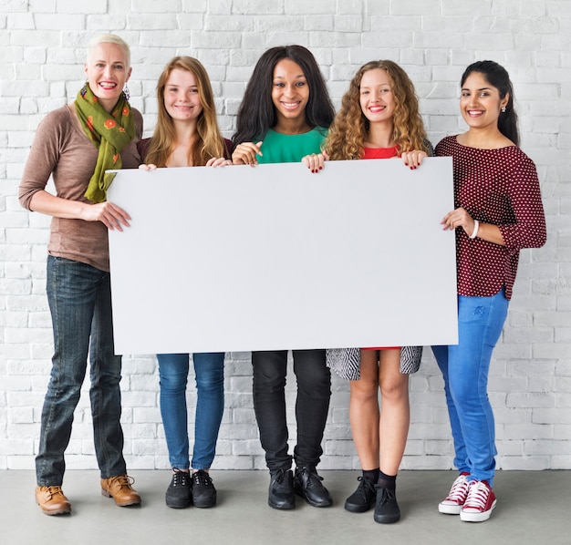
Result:
<svg viewBox="0 0 571 545">
<path fill-rule="evenodd" d="M 101 279 L 89 345 L 91 415 L 101 478 L 125 475 L 121 427 L 121 356 L 115 355 L 109 273 Z"/>
</svg>

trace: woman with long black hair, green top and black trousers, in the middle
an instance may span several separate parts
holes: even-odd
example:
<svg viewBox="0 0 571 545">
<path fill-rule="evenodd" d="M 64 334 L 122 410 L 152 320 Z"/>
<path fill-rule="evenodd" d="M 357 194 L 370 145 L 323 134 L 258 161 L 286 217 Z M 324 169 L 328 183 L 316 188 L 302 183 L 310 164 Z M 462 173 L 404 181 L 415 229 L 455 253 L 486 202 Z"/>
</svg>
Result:
<svg viewBox="0 0 571 545">
<path fill-rule="evenodd" d="M 325 81 L 306 47 L 268 49 L 254 67 L 238 111 L 234 164 L 296 162 L 317 153 L 333 117 Z M 316 468 L 323 454 L 321 441 L 331 396 L 325 349 L 293 350 L 297 379 L 293 457 L 288 453 L 285 418 L 287 352 L 252 354 L 254 410 L 270 470 L 268 504 L 274 509 L 293 509 L 296 491 L 310 505 L 327 507 L 332 499 Z"/>
</svg>

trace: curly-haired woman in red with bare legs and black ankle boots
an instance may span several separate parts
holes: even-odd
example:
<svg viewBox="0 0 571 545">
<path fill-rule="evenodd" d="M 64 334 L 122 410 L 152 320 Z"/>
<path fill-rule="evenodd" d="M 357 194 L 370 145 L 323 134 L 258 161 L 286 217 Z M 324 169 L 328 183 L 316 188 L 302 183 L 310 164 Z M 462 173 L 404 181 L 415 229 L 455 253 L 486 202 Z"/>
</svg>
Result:
<svg viewBox="0 0 571 545">
<path fill-rule="evenodd" d="M 360 67 L 324 149 L 304 158 L 311 170 L 323 168 L 324 159 L 399 157 L 416 169 L 422 158 L 431 155 L 418 98 L 406 72 L 389 60 Z M 409 433 L 409 375 L 418 371 L 421 355 L 420 346 L 327 350 L 327 365 L 350 380 L 349 419 L 363 469 L 345 509 L 364 512 L 375 506 L 374 519 L 379 523 L 400 519 L 395 488 Z"/>
</svg>

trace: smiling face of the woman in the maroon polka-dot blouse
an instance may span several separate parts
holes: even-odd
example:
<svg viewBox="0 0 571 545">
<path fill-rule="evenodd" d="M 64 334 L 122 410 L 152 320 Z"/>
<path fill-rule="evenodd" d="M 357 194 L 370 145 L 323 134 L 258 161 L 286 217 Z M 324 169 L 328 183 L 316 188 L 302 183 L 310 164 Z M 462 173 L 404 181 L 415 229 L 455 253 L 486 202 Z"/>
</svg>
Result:
<svg viewBox="0 0 571 545">
<path fill-rule="evenodd" d="M 497 128 L 502 107 L 508 100 L 509 94 L 501 98 L 498 88 L 493 87 L 481 72 L 472 72 L 462 85 L 462 118 L 471 129 Z"/>
</svg>

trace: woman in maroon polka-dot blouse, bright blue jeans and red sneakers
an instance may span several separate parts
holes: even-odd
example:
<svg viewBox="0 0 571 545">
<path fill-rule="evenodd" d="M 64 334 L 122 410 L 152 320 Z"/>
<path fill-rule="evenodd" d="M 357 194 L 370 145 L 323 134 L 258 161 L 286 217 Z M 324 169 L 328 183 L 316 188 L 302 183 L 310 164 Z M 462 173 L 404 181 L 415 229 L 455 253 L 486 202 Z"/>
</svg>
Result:
<svg viewBox="0 0 571 545">
<path fill-rule="evenodd" d="M 444 377 L 459 476 L 441 513 L 481 522 L 496 505 L 495 433 L 487 383 L 502 334 L 522 248 L 545 244 L 545 216 L 534 162 L 518 148 L 514 89 L 504 67 L 466 68 L 460 110 L 468 130 L 442 139 L 452 156 L 454 206 L 442 219 L 455 231 L 459 342 L 433 346 Z"/>
</svg>

